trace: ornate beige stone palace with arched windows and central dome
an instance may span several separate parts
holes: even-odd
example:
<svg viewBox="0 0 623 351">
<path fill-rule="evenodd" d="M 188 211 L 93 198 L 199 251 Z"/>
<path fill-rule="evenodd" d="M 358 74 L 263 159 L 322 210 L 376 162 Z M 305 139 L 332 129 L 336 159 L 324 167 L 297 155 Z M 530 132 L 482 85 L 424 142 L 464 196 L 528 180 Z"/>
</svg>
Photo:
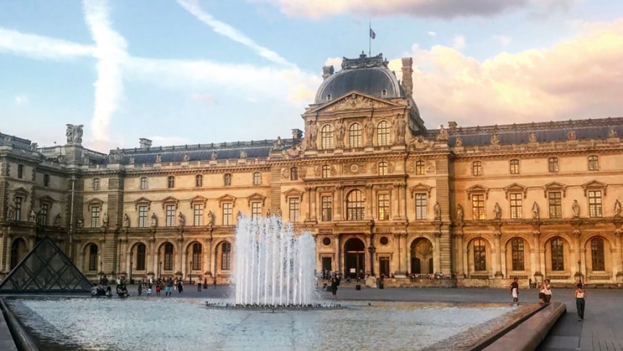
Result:
<svg viewBox="0 0 623 351">
<path fill-rule="evenodd" d="M 49 236 L 92 281 L 227 283 L 239 216 L 278 215 L 318 271 L 386 286 L 620 287 L 623 118 L 427 128 L 402 65 L 323 67 L 289 138 L 102 154 L 82 126 L 53 147 L 0 134 L 0 277 Z"/>
</svg>

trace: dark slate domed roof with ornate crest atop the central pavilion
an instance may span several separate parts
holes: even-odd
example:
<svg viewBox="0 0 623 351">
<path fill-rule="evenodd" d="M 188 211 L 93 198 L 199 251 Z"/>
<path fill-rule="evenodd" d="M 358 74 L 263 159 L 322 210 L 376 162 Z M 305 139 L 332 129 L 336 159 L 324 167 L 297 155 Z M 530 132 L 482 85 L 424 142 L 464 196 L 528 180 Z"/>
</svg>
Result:
<svg viewBox="0 0 623 351">
<path fill-rule="evenodd" d="M 335 74 L 329 72 L 320 84 L 315 103 L 327 102 L 353 90 L 378 98 L 404 98 L 404 91 L 387 64 L 383 54 L 367 57 L 361 53 L 358 59 L 344 57 L 342 69 Z"/>
</svg>

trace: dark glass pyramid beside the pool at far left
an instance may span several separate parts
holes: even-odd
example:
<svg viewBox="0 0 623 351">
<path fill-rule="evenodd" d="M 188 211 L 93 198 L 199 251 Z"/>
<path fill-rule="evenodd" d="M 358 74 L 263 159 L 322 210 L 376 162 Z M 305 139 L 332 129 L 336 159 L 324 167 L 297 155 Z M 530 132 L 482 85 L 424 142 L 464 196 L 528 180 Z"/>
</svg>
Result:
<svg viewBox="0 0 623 351">
<path fill-rule="evenodd" d="M 0 283 L 1 293 L 87 293 L 91 282 L 44 237 Z"/>
</svg>

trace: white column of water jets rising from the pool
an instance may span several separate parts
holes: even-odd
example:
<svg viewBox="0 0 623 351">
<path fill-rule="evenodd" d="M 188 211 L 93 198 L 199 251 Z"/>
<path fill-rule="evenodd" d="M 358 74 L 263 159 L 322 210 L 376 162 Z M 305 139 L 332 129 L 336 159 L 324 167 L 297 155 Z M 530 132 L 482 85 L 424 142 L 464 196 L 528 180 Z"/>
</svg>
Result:
<svg viewBox="0 0 623 351">
<path fill-rule="evenodd" d="M 233 282 L 236 305 L 307 306 L 316 287 L 316 243 L 281 217 L 238 218 Z"/>
</svg>

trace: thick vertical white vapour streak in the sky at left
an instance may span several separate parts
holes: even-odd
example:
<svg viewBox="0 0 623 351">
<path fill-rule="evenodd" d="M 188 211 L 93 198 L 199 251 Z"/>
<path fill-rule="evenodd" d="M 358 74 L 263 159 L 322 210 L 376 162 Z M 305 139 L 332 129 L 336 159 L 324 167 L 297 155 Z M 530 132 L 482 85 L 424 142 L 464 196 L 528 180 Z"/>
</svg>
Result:
<svg viewBox="0 0 623 351">
<path fill-rule="evenodd" d="M 84 0 L 84 19 L 96 42 L 93 56 L 98 59 L 95 107 L 91 120 L 93 142 L 109 141 L 109 125 L 123 98 L 121 66 L 127 60 L 125 39 L 111 29 L 105 0 Z"/>
</svg>

